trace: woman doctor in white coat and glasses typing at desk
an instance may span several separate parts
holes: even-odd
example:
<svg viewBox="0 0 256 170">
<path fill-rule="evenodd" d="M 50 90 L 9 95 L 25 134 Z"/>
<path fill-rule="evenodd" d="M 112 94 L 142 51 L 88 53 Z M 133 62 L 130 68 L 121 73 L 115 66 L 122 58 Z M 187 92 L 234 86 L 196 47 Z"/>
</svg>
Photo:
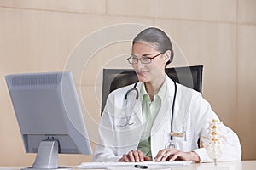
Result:
<svg viewBox="0 0 256 170">
<path fill-rule="evenodd" d="M 109 94 L 94 161 L 212 161 L 197 140 L 204 144 L 209 122 L 218 116 L 200 93 L 166 76 L 172 59 L 164 31 L 150 27 L 134 38 L 127 60 L 139 82 Z M 218 161 L 241 160 L 236 133 L 221 125 L 221 134 L 225 144 Z"/>
</svg>

